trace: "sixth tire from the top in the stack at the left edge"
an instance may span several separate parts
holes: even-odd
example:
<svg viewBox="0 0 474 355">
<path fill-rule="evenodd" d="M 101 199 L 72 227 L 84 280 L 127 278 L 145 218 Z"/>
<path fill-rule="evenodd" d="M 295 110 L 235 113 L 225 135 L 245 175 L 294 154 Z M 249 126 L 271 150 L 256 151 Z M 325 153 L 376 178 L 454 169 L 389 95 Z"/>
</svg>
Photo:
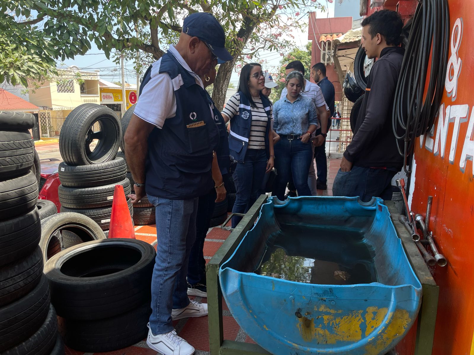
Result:
<svg viewBox="0 0 474 355">
<path fill-rule="evenodd" d="M 48 310 L 48 280 L 42 277 L 30 293 L 0 308 L 0 352 L 33 335 L 45 321 Z"/>
</svg>

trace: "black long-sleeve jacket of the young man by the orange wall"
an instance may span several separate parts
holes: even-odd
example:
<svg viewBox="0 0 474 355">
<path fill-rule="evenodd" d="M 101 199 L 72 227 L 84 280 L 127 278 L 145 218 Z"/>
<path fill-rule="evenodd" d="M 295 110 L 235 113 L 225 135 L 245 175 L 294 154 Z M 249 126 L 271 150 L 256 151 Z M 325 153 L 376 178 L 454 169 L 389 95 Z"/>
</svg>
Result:
<svg viewBox="0 0 474 355">
<path fill-rule="evenodd" d="M 384 48 L 372 67 L 354 136 L 344 152 L 354 166 L 400 169 L 403 165 L 392 130 L 393 101 L 403 53 L 400 47 Z"/>
</svg>

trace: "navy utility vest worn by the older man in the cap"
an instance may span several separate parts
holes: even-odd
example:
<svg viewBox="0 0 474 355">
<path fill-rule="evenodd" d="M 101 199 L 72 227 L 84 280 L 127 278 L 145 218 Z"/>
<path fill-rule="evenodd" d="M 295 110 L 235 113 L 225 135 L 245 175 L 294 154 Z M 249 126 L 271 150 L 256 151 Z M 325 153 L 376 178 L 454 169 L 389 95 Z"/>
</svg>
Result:
<svg viewBox="0 0 474 355">
<path fill-rule="evenodd" d="M 161 58 L 159 72 L 173 80 L 176 115 L 148 137 L 146 193 L 175 200 L 199 197 L 214 186 L 212 151 L 219 143 L 219 129 L 206 90 L 169 51 Z M 142 88 L 150 75 L 147 71 Z"/>
</svg>

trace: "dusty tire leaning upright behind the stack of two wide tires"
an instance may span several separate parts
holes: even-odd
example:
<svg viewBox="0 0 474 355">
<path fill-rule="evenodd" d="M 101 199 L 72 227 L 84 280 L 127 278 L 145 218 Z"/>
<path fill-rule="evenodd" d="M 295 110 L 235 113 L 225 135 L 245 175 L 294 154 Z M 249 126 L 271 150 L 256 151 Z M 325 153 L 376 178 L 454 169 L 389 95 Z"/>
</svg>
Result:
<svg viewBox="0 0 474 355">
<path fill-rule="evenodd" d="M 61 251 L 61 243 L 59 243 L 59 250 L 57 246 L 58 231 L 63 233 L 61 239 L 65 248 L 69 247 L 65 246 L 64 232 L 66 231 L 73 234 L 71 237 L 80 238 L 81 242 L 105 239 L 105 235 L 97 223 L 80 213 L 57 213 L 47 217 L 41 221 L 41 241 L 39 243 L 45 263 L 50 256 Z"/>
</svg>

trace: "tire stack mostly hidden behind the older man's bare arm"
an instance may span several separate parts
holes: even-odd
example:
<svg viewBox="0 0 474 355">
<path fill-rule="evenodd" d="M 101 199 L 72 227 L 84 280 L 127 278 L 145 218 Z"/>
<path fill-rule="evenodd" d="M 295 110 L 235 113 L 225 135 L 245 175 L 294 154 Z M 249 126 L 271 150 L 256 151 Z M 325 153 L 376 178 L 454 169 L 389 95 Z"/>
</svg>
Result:
<svg viewBox="0 0 474 355">
<path fill-rule="evenodd" d="M 120 158 L 123 158 L 125 160 L 125 142 L 123 137 L 125 136 L 125 132 L 127 131 L 128 124 L 130 123 L 130 118 L 133 115 L 133 111 L 135 110 L 135 105 L 132 105 L 130 108 L 128 108 L 127 111 L 125 111 L 125 114 L 122 117 L 121 120 L 121 125 L 122 125 L 122 139 L 120 140 L 120 150 L 117 153 L 117 156 Z M 128 169 L 128 164 L 127 164 L 127 177 L 128 180 L 130 180 L 130 186 L 132 189 L 132 192 L 135 192 L 133 190 L 133 186 L 135 184 L 135 181 L 133 181 L 132 173 Z M 155 224 L 155 206 L 148 201 L 148 198 L 145 196 L 143 197 L 140 202 L 137 204 L 133 205 L 133 222 L 136 226 L 144 226 L 144 225 L 150 225 L 150 224 Z"/>
</svg>

